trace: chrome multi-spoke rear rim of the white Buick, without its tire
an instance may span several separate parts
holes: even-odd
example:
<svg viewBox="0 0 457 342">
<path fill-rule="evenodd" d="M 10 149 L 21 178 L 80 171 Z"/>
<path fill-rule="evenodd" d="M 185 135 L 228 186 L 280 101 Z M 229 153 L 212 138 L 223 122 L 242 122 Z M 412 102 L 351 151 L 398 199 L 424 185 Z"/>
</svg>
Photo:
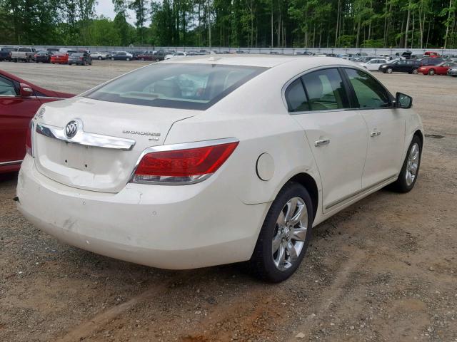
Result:
<svg viewBox="0 0 457 342">
<path fill-rule="evenodd" d="M 301 197 L 289 199 L 276 219 L 271 241 L 273 263 L 280 271 L 289 269 L 301 254 L 308 229 L 308 210 Z"/>
</svg>

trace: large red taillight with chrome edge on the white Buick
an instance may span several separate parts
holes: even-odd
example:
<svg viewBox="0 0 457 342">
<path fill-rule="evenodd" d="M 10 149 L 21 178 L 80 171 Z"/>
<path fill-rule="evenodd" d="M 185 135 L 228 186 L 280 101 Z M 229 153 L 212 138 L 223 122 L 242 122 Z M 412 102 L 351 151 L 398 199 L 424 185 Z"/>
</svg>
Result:
<svg viewBox="0 0 457 342">
<path fill-rule="evenodd" d="M 147 184 L 192 184 L 212 175 L 238 145 L 233 139 L 151 147 L 141 157 L 132 182 Z"/>
</svg>

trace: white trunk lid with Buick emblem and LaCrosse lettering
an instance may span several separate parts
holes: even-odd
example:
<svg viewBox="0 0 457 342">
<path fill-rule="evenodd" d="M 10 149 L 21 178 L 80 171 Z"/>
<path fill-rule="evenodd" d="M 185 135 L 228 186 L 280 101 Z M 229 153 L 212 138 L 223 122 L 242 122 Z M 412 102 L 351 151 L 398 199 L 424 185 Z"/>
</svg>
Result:
<svg viewBox="0 0 457 342">
<path fill-rule="evenodd" d="M 70 187 L 119 192 L 141 152 L 163 145 L 173 123 L 198 113 L 84 97 L 50 103 L 41 118 L 36 117 L 36 167 Z M 72 127 L 66 130 L 67 125 Z"/>
</svg>

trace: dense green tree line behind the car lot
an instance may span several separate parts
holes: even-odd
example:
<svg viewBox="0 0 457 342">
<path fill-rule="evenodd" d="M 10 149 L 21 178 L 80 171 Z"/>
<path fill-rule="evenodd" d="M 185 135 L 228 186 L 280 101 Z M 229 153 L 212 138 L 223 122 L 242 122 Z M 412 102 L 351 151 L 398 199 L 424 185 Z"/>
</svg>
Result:
<svg viewBox="0 0 457 342">
<path fill-rule="evenodd" d="M 457 48 L 457 0 L 112 1 L 113 20 L 96 0 L 0 0 L 0 43 Z"/>
</svg>

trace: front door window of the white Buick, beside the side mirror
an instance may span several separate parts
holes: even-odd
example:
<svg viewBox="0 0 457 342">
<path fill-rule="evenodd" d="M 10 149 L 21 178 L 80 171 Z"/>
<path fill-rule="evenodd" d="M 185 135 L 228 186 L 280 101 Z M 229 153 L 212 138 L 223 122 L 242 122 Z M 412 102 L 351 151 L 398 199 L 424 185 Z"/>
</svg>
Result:
<svg viewBox="0 0 457 342">
<path fill-rule="evenodd" d="M 360 70 L 346 68 L 358 105 L 356 108 L 388 108 L 391 100 L 388 92 L 375 78 Z"/>
</svg>

